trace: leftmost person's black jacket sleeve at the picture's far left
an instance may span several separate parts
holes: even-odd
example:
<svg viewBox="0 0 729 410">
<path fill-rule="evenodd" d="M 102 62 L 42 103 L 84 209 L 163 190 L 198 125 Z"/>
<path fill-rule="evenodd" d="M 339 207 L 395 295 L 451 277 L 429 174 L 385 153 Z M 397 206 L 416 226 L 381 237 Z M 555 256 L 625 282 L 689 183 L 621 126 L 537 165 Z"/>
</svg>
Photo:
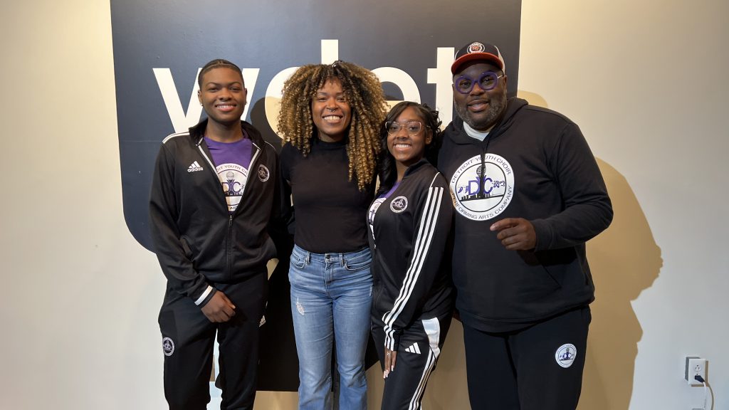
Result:
<svg viewBox="0 0 729 410">
<path fill-rule="evenodd" d="M 215 290 L 205 276 L 192 266 L 191 252 L 177 227 L 178 205 L 174 175 L 174 156 L 165 144 L 160 147 L 152 177 L 149 198 L 149 227 L 157 259 L 169 285 L 198 306 L 211 298 Z M 187 247 L 187 249 L 186 249 Z"/>
</svg>

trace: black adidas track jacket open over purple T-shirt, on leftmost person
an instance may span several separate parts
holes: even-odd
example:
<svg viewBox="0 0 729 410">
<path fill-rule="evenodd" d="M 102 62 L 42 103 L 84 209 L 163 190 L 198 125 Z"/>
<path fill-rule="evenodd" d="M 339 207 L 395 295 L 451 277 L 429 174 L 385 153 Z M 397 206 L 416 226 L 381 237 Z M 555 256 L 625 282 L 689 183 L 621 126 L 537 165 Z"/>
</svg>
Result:
<svg viewBox="0 0 729 410">
<path fill-rule="evenodd" d="M 252 140 L 246 189 L 230 214 L 203 139 L 207 120 L 164 139 L 157 154 L 149 225 L 168 285 L 204 305 L 214 282 L 235 283 L 266 271 L 276 247 L 268 224 L 278 214 L 278 155 L 249 123 Z"/>
</svg>

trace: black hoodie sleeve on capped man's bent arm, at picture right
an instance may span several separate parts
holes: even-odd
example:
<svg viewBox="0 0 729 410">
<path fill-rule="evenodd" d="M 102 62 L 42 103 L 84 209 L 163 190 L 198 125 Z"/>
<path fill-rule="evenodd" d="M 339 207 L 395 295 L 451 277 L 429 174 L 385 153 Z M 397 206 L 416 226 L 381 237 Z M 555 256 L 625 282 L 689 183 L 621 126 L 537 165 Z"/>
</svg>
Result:
<svg viewBox="0 0 729 410">
<path fill-rule="evenodd" d="M 612 204 L 607 187 L 576 124 L 565 126 L 548 161 L 564 205 L 558 214 L 531 220 L 537 233 L 534 249 L 537 251 L 585 243 L 612 222 Z"/>
</svg>

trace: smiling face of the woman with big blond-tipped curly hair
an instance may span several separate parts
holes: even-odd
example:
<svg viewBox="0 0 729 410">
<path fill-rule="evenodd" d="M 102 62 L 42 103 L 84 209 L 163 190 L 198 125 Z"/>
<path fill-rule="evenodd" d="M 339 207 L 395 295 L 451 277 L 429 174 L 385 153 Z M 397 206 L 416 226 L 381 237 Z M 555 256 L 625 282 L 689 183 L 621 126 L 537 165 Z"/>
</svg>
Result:
<svg viewBox="0 0 729 410">
<path fill-rule="evenodd" d="M 316 90 L 311 100 L 311 117 L 321 141 L 341 141 L 351 123 L 351 115 L 351 107 L 338 78 L 330 78 Z"/>
</svg>

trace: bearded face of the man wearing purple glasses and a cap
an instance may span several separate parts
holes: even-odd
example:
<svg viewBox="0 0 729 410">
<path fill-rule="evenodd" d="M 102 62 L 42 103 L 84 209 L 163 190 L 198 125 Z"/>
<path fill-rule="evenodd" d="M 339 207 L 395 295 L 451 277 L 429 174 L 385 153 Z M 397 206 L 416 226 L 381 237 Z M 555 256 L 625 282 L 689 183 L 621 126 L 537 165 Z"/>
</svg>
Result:
<svg viewBox="0 0 729 410">
<path fill-rule="evenodd" d="M 486 71 L 501 73 L 499 67 L 490 63 L 466 64 L 459 72 L 453 75 L 453 79 L 463 75 L 477 79 Z M 467 123 L 478 131 L 489 131 L 496 124 L 506 109 L 506 85 L 507 76 L 499 78 L 496 87 L 484 91 L 478 84 L 467 94 L 461 94 L 453 86 L 453 102 L 456 104 L 456 112 L 464 123 Z"/>
</svg>

